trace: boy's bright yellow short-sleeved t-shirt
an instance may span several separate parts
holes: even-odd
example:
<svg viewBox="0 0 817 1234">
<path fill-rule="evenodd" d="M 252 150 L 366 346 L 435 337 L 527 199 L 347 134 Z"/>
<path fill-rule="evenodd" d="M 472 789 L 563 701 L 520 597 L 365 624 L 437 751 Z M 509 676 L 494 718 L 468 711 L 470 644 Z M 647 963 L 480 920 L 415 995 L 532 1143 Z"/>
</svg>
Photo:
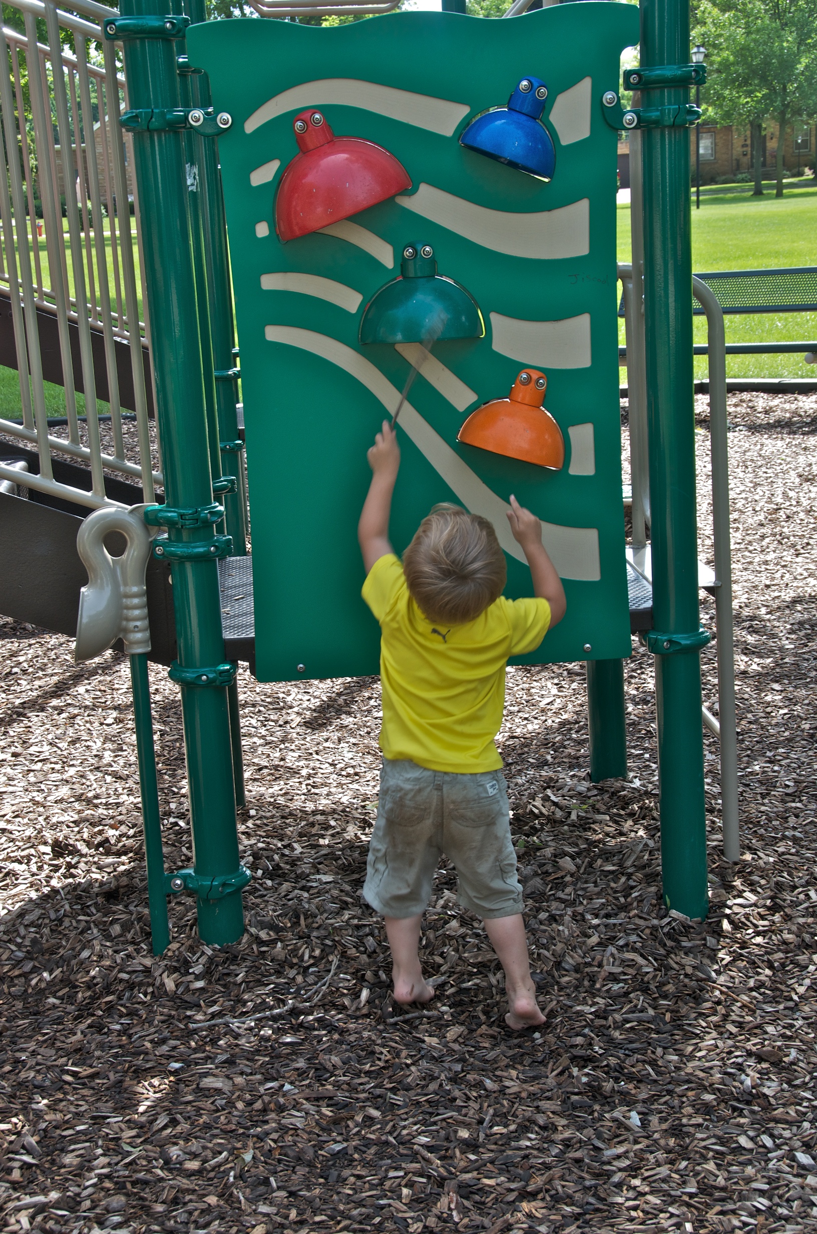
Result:
<svg viewBox="0 0 817 1234">
<path fill-rule="evenodd" d="M 505 664 L 533 652 L 550 624 L 547 600 L 506 600 L 464 626 L 436 626 L 411 598 L 400 559 L 374 563 L 363 598 L 380 622 L 383 727 L 388 759 L 434 771 L 494 771 Z"/>
</svg>

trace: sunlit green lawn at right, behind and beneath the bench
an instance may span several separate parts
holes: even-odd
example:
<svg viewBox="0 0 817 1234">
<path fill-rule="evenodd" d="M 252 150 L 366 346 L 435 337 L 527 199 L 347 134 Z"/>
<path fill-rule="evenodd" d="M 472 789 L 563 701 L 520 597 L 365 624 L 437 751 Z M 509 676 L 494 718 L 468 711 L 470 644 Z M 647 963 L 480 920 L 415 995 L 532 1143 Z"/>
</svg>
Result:
<svg viewBox="0 0 817 1234">
<path fill-rule="evenodd" d="M 629 260 L 629 206 L 618 211 L 618 260 Z M 692 209 L 692 270 L 758 270 L 781 265 L 817 265 L 817 188 L 797 195 L 753 197 L 707 194 Z M 726 316 L 727 343 L 817 342 L 817 313 L 781 312 Z M 624 323 L 620 321 L 620 341 Z M 695 318 L 695 342 L 706 342 L 706 320 Z M 706 357 L 695 359 L 696 376 L 706 376 Z M 733 378 L 817 378 L 817 365 L 801 355 L 728 355 Z"/>
</svg>

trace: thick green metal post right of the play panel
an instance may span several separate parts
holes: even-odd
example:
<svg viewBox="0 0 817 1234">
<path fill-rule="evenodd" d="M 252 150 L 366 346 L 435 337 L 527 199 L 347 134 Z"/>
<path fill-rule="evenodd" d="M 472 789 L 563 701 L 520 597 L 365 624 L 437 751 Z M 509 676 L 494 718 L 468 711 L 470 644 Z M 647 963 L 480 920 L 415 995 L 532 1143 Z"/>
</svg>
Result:
<svg viewBox="0 0 817 1234">
<path fill-rule="evenodd" d="M 689 0 L 642 0 L 643 68 L 687 64 Z M 643 97 L 643 96 L 642 96 Z M 654 107 L 685 106 L 689 88 L 654 89 Z M 653 622 L 664 902 L 708 909 L 701 729 L 690 139 L 686 127 L 644 128 L 644 315 L 652 507 Z"/>
</svg>

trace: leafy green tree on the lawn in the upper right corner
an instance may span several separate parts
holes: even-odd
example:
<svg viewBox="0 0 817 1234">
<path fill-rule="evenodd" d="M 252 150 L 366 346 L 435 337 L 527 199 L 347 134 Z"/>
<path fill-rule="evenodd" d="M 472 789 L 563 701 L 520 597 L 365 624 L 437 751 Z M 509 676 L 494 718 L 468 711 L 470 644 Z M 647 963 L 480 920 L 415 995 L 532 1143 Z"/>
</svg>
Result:
<svg viewBox="0 0 817 1234">
<path fill-rule="evenodd" d="M 755 195 L 764 126 L 776 121 L 781 197 L 786 131 L 817 114 L 817 0 L 702 0 L 694 37 L 707 49 L 707 118 L 752 130 Z"/>
</svg>

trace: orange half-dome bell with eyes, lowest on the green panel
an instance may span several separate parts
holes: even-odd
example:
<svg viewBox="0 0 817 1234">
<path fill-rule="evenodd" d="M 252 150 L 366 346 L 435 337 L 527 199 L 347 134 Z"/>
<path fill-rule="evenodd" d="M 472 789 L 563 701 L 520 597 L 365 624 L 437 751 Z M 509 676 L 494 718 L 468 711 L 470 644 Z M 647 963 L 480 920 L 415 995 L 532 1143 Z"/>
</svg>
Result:
<svg viewBox="0 0 817 1234">
<path fill-rule="evenodd" d="M 547 384 L 544 373 L 522 369 L 510 397 L 491 399 L 473 411 L 457 441 L 558 471 L 564 465 L 564 437 L 542 406 Z"/>
</svg>

